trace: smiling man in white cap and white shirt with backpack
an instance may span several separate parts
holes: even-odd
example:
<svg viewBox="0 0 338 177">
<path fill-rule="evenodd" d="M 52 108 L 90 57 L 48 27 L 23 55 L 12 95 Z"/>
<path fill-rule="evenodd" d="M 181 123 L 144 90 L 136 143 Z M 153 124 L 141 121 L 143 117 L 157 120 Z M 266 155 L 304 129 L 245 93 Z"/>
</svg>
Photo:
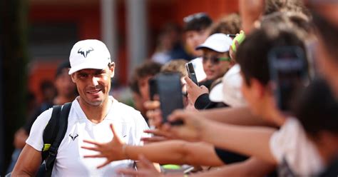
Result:
<svg viewBox="0 0 338 177">
<path fill-rule="evenodd" d="M 114 161 L 103 168 L 105 158 L 83 158 L 91 151 L 81 148 L 83 140 L 108 142 L 111 129 L 130 145 L 140 144 L 148 129 L 140 112 L 118 102 L 108 93 L 115 64 L 105 44 L 98 40 L 78 41 L 69 57 L 71 79 L 78 96 L 71 105 L 68 128 L 58 147 L 51 176 L 115 176 L 116 168 L 133 166 L 133 161 Z M 14 176 L 34 176 L 41 163 L 43 129 L 51 118 L 52 108 L 41 113 L 31 128 L 26 146 L 14 167 Z M 110 125 L 113 124 L 113 126 Z"/>
</svg>

